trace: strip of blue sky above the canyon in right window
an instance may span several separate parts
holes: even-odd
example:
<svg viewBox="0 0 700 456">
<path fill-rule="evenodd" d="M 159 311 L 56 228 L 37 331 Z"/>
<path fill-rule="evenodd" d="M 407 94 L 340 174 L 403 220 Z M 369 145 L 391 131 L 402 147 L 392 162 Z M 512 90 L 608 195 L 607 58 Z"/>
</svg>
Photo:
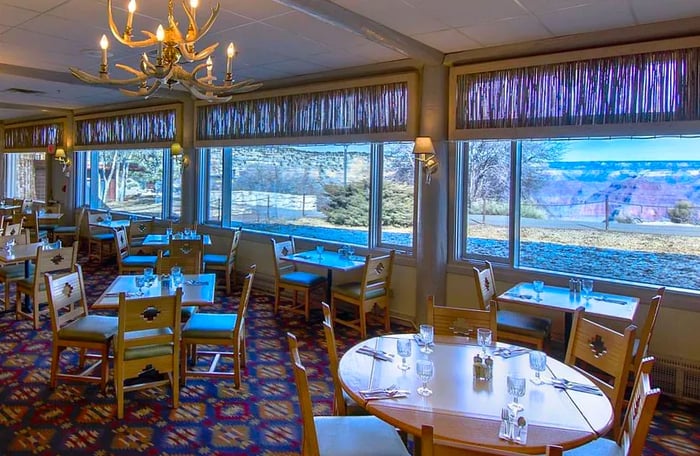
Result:
<svg viewBox="0 0 700 456">
<path fill-rule="evenodd" d="M 700 160 L 700 138 L 568 141 L 562 161 Z"/>
</svg>

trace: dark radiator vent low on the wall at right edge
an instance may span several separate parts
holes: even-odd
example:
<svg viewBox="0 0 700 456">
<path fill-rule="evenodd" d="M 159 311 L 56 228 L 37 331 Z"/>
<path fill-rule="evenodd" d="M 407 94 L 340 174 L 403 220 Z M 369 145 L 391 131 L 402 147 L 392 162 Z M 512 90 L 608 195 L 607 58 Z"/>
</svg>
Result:
<svg viewBox="0 0 700 456">
<path fill-rule="evenodd" d="M 700 402 L 700 362 L 670 356 L 656 357 L 652 383 L 670 396 Z"/>
</svg>

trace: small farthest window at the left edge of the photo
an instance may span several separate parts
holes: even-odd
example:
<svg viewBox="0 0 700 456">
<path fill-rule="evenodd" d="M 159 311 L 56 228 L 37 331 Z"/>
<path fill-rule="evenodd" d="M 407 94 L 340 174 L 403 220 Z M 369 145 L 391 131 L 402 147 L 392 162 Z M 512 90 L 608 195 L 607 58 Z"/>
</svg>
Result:
<svg viewBox="0 0 700 456">
<path fill-rule="evenodd" d="M 44 152 L 6 153 L 5 189 L 8 198 L 46 201 Z"/>
</svg>

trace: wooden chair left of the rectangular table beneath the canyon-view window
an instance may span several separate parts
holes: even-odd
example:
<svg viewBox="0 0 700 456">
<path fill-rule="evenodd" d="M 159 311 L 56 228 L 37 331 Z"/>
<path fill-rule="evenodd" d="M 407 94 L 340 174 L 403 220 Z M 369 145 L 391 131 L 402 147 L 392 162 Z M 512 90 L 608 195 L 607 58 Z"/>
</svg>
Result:
<svg viewBox="0 0 700 456">
<path fill-rule="evenodd" d="M 488 310 L 490 306 L 496 306 L 496 322 L 498 335 L 501 339 L 522 342 L 533 345 L 538 350 L 544 350 L 545 341 L 549 340 L 552 321 L 548 318 L 536 317 L 520 312 L 498 309 L 496 301 L 496 279 L 493 274 L 491 262 L 486 261 L 486 268 L 474 270 L 474 285 L 479 307 Z"/>
</svg>

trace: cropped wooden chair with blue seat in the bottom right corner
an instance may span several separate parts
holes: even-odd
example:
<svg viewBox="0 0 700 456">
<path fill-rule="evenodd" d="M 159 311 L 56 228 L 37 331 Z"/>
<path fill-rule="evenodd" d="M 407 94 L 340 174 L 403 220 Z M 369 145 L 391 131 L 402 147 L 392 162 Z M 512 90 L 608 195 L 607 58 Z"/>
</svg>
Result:
<svg viewBox="0 0 700 456">
<path fill-rule="evenodd" d="M 654 358 L 644 358 L 639 363 L 634 388 L 632 389 L 632 407 L 627 409 L 622 432 L 617 440 L 597 439 L 569 450 L 566 456 L 616 455 L 641 456 L 649 433 L 654 411 L 661 397 L 661 390 L 651 387 L 649 374 L 654 365 Z"/>
</svg>

